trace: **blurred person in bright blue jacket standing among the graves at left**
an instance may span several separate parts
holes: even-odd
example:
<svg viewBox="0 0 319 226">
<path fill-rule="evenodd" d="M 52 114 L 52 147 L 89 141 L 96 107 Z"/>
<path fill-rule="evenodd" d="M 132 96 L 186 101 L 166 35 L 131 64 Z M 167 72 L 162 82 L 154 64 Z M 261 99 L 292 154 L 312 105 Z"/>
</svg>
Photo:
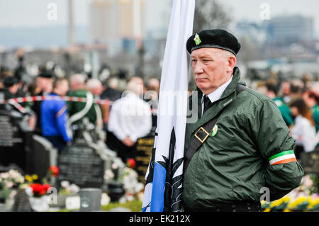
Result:
<svg viewBox="0 0 319 226">
<path fill-rule="evenodd" d="M 43 137 L 52 142 L 59 154 L 66 145 L 70 145 L 72 135 L 67 128 L 67 103 L 60 97 L 65 96 L 69 90 L 67 79 L 57 79 L 53 91 L 49 95 L 54 98 L 41 103 L 41 123 Z"/>
</svg>

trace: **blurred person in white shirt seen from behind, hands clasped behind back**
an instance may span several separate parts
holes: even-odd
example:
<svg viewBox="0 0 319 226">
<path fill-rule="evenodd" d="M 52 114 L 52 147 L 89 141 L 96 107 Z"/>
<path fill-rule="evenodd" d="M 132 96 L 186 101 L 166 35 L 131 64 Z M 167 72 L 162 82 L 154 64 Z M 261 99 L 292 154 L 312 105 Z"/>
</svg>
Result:
<svg viewBox="0 0 319 226">
<path fill-rule="evenodd" d="M 111 107 L 106 144 L 116 149 L 123 162 L 135 157 L 136 141 L 148 135 L 152 129 L 150 106 L 139 97 L 143 89 L 142 79 L 133 77 L 123 97 Z"/>
</svg>

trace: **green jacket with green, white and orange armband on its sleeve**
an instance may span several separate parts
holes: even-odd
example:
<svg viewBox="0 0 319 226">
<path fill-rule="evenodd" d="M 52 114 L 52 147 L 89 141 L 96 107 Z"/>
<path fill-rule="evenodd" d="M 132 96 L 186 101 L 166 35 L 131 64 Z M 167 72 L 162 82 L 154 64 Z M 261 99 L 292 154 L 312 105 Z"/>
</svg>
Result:
<svg viewBox="0 0 319 226">
<path fill-rule="evenodd" d="M 259 201 L 267 188 L 270 200 L 275 200 L 301 183 L 303 169 L 293 158 L 294 140 L 279 108 L 252 89 L 237 95 L 239 80 L 240 70 L 235 67 L 221 98 L 196 123 L 186 124 L 185 151 L 198 128 L 223 110 L 216 134 L 209 131 L 184 173 L 183 205 L 189 210 Z M 198 116 L 201 96 L 198 90 Z"/>
</svg>

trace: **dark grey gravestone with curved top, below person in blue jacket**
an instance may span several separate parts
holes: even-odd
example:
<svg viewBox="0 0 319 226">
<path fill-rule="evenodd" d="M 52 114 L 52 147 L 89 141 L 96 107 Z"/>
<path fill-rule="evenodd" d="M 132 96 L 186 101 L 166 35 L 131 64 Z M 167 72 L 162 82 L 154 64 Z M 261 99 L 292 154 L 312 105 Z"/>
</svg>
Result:
<svg viewBox="0 0 319 226">
<path fill-rule="evenodd" d="M 95 149 L 85 144 L 67 146 L 57 158 L 61 181 L 75 183 L 80 188 L 101 188 L 104 179 L 105 164 Z"/>
</svg>

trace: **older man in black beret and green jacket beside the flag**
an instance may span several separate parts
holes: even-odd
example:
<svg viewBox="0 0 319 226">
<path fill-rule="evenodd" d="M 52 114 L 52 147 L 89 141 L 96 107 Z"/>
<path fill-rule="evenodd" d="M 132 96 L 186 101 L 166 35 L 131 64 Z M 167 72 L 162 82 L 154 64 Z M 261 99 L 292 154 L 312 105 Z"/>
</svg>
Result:
<svg viewBox="0 0 319 226">
<path fill-rule="evenodd" d="M 222 112 L 184 171 L 184 210 L 261 211 L 260 200 L 281 198 L 301 183 L 303 169 L 289 128 L 271 98 L 252 89 L 237 94 L 240 44 L 235 36 L 202 30 L 187 40 L 186 49 L 197 86 L 198 120 L 186 123 L 185 152 L 198 129 Z"/>
</svg>

